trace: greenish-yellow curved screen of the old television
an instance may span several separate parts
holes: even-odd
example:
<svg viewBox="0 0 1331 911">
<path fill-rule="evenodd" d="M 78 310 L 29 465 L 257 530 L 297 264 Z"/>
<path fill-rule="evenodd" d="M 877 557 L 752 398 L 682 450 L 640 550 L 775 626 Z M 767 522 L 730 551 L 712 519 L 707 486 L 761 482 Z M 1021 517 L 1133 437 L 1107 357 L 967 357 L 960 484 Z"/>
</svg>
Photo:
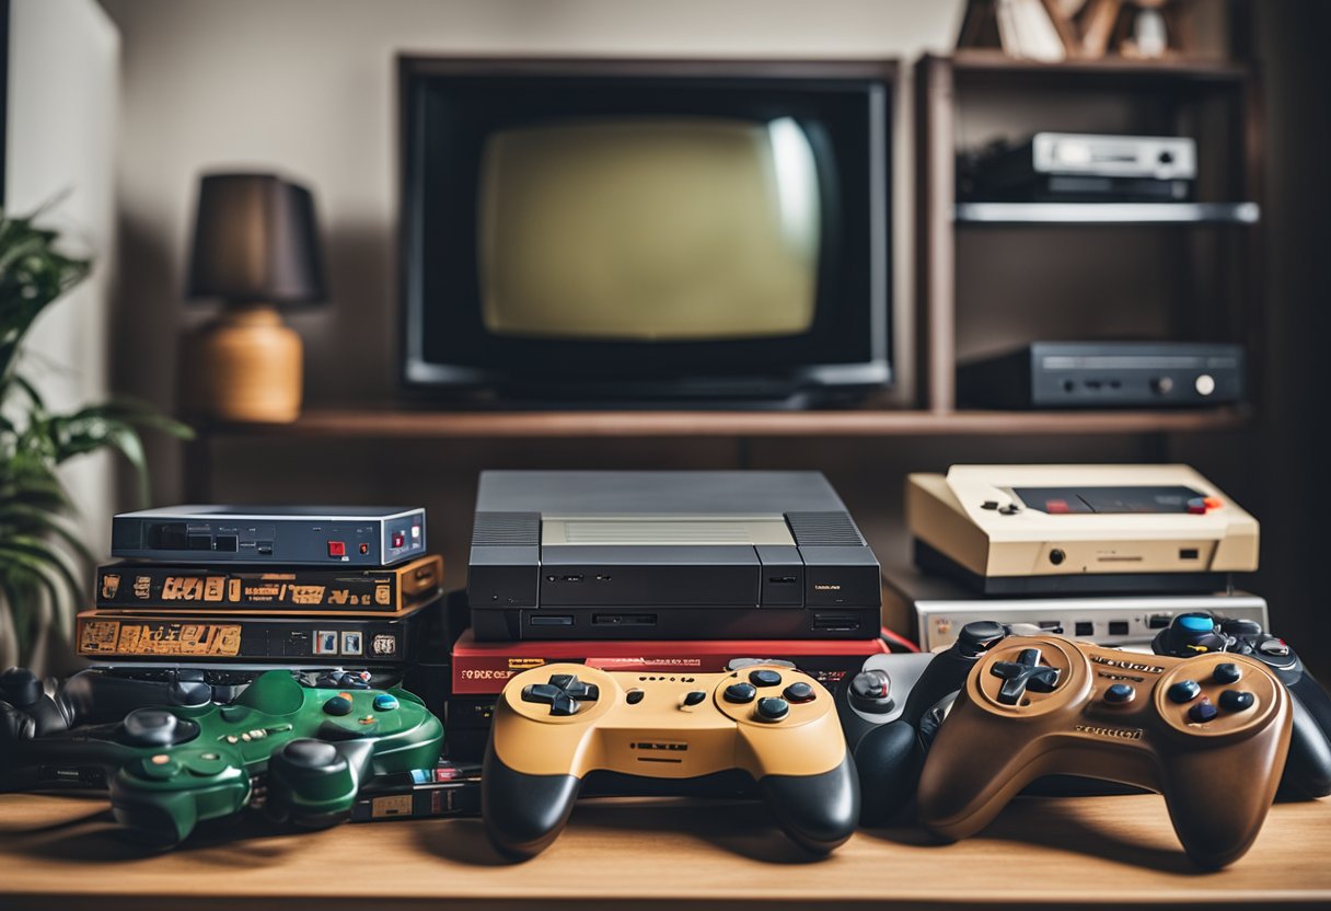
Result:
<svg viewBox="0 0 1331 911">
<path fill-rule="evenodd" d="M 789 117 L 500 131 L 480 161 L 484 328 L 634 342 L 807 333 L 819 212 L 813 151 Z"/>
</svg>

